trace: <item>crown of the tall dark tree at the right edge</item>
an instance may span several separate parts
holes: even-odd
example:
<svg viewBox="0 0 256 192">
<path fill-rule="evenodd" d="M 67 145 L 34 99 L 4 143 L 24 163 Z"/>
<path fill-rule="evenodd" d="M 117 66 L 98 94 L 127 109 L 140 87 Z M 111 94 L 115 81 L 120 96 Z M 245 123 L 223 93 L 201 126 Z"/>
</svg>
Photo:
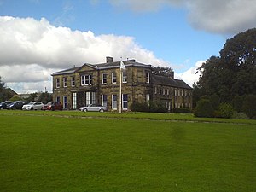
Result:
<svg viewBox="0 0 256 192">
<path fill-rule="evenodd" d="M 217 94 L 221 102 L 235 96 L 256 94 L 256 28 L 230 38 L 219 56 L 210 57 L 198 68 L 196 96 Z"/>
</svg>

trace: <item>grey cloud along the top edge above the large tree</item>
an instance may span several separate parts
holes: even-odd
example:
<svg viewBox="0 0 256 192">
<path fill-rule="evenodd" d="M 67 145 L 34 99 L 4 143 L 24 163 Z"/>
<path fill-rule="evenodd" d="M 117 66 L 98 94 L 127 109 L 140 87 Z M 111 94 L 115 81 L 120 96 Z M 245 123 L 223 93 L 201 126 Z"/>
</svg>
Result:
<svg viewBox="0 0 256 192">
<path fill-rule="evenodd" d="M 188 20 L 196 29 L 234 35 L 256 26 L 254 0 L 109 0 L 114 6 L 136 12 L 157 11 L 166 6 L 187 9 Z"/>
</svg>

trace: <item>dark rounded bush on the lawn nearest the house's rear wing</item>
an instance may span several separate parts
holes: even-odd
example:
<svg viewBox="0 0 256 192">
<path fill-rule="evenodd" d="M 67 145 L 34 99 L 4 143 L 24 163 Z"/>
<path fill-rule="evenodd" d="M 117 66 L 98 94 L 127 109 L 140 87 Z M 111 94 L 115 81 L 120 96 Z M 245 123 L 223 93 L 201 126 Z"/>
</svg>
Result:
<svg viewBox="0 0 256 192">
<path fill-rule="evenodd" d="M 195 117 L 213 117 L 214 109 L 208 99 L 201 99 L 197 102 L 195 111 Z"/>
</svg>

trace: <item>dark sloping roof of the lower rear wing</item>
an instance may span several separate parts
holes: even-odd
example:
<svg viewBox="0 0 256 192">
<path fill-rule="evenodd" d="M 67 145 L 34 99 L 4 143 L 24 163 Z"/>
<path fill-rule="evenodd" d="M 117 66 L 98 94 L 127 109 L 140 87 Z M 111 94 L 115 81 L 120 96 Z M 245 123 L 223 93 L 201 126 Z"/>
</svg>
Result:
<svg viewBox="0 0 256 192">
<path fill-rule="evenodd" d="M 183 89 L 192 89 L 189 86 L 189 84 L 186 84 L 185 82 L 183 82 L 183 80 L 172 79 L 172 78 L 160 76 L 160 75 L 152 75 L 152 83 L 162 84 L 162 85 L 167 85 L 167 86 L 172 86 L 177 88 L 183 88 Z"/>
</svg>

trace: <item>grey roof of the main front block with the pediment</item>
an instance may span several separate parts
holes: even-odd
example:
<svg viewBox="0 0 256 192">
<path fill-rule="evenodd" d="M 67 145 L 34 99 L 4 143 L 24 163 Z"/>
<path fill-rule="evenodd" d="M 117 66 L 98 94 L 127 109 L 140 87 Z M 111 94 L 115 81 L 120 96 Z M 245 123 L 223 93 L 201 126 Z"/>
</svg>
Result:
<svg viewBox="0 0 256 192">
<path fill-rule="evenodd" d="M 146 65 L 140 62 L 137 62 L 135 60 L 128 60 L 128 61 L 123 61 L 125 64 L 125 67 L 148 67 L 151 68 L 151 65 Z M 85 63 L 83 66 L 81 67 L 72 67 L 72 68 L 68 68 L 56 73 L 53 73 L 52 75 L 60 75 L 60 74 L 68 74 L 68 73 L 75 73 L 77 71 L 79 71 L 80 68 L 84 67 L 84 66 L 89 66 L 92 68 L 95 68 L 96 70 L 103 70 L 103 69 L 109 69 L 109 68 L 118 68 L 120 67 L 120 61 L 114 61 L 114 62 L 110 62 L 110 63 L 100 63 L 100 64 L 89 64 L 89 63 Z"/>
</svg>

